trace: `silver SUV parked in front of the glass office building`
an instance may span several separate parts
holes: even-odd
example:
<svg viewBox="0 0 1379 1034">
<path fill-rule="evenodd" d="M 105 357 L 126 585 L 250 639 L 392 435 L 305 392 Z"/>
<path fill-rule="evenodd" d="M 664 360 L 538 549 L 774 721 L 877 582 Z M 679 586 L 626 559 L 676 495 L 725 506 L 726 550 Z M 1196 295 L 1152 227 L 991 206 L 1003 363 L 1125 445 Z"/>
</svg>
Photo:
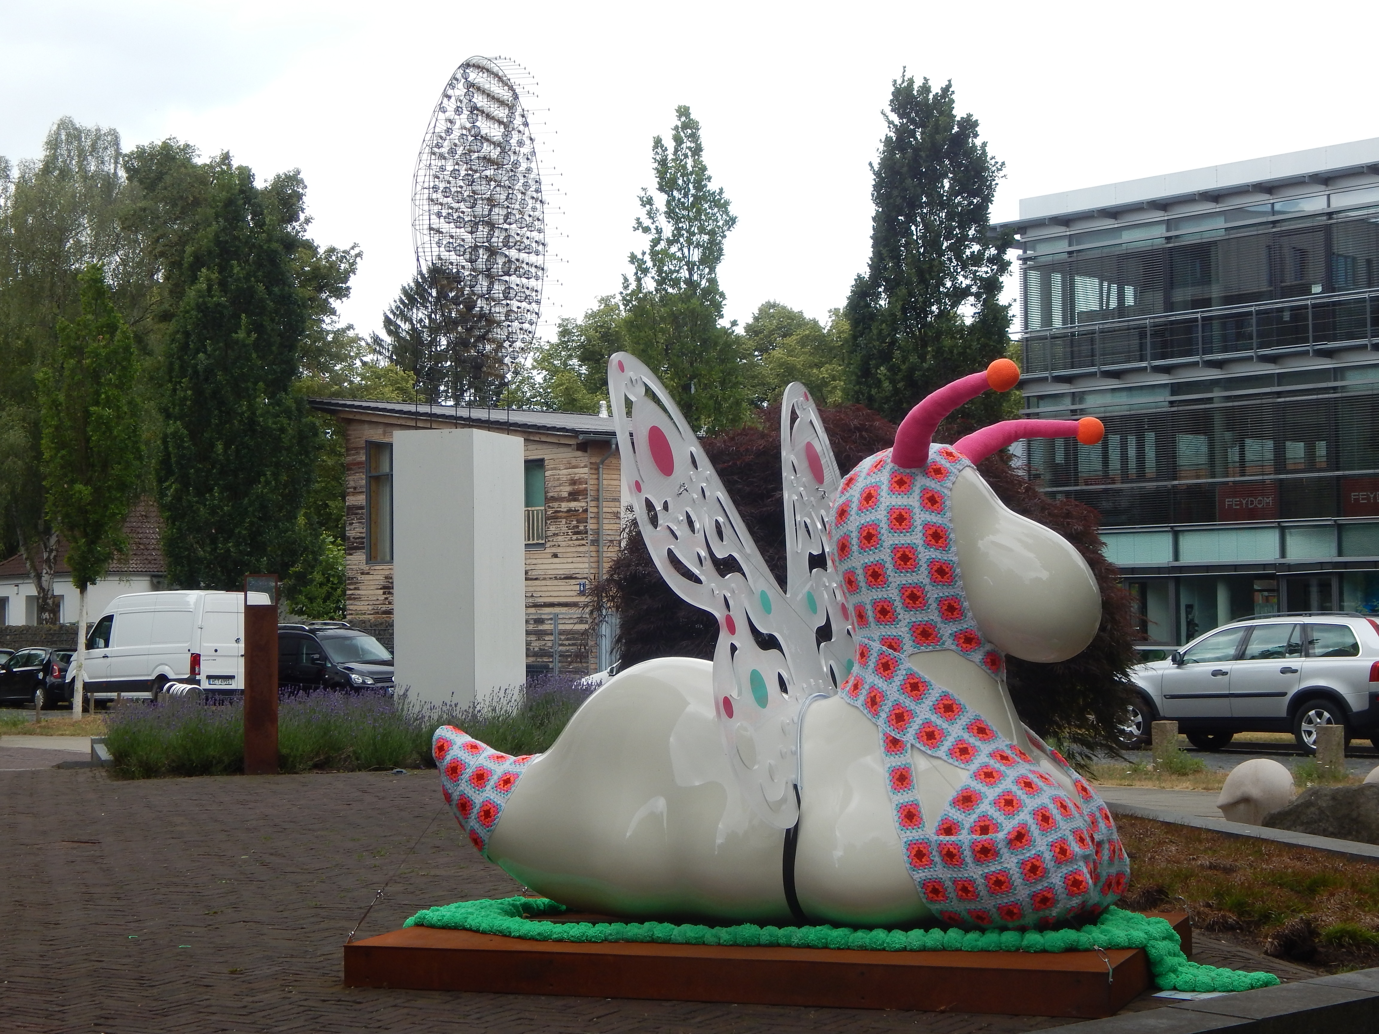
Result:
<svg viewBox="0 0 1379 1034">
<path fill-rule="evenodd" d="M 1379 749 L 1379 622 L 1361 614 L 1242 618 L 1131 677 L 1139 729 L 1171 718 L 1200 750 L 1237 732 L 1291 732 L 1310 754 L 1318 725 L 1345 725 L 1347 743 L 1368 736 Z"/>
</svg>

